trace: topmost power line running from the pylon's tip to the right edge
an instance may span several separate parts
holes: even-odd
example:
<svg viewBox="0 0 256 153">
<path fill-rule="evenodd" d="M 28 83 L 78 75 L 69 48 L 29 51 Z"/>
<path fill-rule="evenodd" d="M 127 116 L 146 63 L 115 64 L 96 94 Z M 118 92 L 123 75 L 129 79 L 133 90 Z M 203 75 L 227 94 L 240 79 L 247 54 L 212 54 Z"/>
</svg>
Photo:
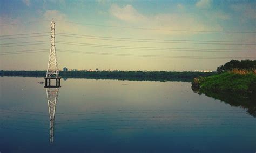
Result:
<svg viewBox="0 0 256 153">
<path fill-rule="evenodd" d="M 112 27 L 112 28 L 127 28 L 136 30 L 158 30 L 158 31 L 180 31 L 180 32 L 211 32 L 211 33 L 256 33 L 256 31 L 205 31 L 205 30 L 172 30 L 172 29 L 162 29 L 162 28 L 143 28 L 143 27 L 125 27 L 125 26 L 109 26 L 109 25 L 97 25 L 97 24 L 86 24 L 77 23 L 72 21 L 55 20 L 64 23 L 80 24 L 80 25 L 90 25 L 90 26 L 101 26 L 101 27 Z"/>
</svg>

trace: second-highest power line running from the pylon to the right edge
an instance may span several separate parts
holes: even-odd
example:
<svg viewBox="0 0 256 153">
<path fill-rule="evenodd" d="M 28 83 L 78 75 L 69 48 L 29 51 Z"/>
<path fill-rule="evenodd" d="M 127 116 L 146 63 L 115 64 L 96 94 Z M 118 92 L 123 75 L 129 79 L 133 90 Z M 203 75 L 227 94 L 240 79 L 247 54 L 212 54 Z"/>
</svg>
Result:
<svg viewBox="0 0 256 153">
<path fill-rule="evenodd" d="M 75 36 L 83 36 L 83 37 L 96 37 L 96 38 L 111 38 L 111 39 L 131 39 L 131 40 L 255 43 L 255 41 L 210 41 L 210 40 L 142 39 L 142 38 L 124 38 L 124 37 L 103 37 L 103 36 L 96 36 L 96 35 L 82 35 L 82 34 L 59 33 L 59 32 L 56 34 L 75 35 Z"/>
</svg>

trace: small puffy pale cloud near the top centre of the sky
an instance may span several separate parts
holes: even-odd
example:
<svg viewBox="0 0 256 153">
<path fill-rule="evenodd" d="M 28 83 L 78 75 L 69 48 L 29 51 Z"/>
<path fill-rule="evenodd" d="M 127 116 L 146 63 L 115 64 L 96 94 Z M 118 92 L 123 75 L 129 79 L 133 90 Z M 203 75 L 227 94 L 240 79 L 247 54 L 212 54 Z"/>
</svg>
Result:
<svg viewBox="0 0 256 153">
<path fill-rule="evenodd" d="M 117 4 L 112 4 L 109 10 L 110 14 L 120 20 L 127 22 L 144 21 L 146 17 L 140 14 L 132 5 L 126 5 L 123 8 Z"/>
</svg>

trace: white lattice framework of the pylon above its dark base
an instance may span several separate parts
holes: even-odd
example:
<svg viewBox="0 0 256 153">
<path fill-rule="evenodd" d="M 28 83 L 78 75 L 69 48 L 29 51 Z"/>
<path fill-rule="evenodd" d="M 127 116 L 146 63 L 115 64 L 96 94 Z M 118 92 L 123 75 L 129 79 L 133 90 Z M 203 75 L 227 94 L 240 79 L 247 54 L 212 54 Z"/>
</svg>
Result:
<svg viewBox="0 0 256 153">
<path fill-rule="evenodd" d="M 55 23 L 51 21 L 51 49 L 48 61 L 48 68 L 46 72 L 46 78 L 58 78 L 59 69 L 57 64 L 56 57 L 56 48 L 55 48 Z"/>
</svg>

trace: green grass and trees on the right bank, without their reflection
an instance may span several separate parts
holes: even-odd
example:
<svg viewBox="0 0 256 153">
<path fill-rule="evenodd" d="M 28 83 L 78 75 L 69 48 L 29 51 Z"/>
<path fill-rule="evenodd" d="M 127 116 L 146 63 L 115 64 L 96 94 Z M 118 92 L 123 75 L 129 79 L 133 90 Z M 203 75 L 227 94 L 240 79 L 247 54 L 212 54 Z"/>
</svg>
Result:
<svg viewBox="0 0 256 153">
<path fill-rule="evenodd" d="M 231 60 L 217 68 L 218 74 L 197 77 L 192 88 L 212 92 L 255 93 L 256 60 Z"/>
</svg>

